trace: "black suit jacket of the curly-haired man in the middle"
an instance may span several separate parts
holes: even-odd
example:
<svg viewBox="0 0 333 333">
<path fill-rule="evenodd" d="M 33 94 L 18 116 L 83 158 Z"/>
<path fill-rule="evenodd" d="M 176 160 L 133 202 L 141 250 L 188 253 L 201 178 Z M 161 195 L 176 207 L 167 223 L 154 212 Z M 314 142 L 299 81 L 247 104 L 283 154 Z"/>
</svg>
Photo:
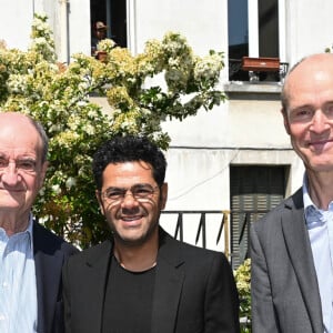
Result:
<svg viewBox="0 0 333 333">
<path fill-rule="evenodd" d="M 63 266 L 67 333 L 101 332 L 111 253 L 112 242 L 107 241 Z M 181 243 L 160 229 L 151 333 L 239 330 L 238 292 L 225 256 Z"/>
</svg>

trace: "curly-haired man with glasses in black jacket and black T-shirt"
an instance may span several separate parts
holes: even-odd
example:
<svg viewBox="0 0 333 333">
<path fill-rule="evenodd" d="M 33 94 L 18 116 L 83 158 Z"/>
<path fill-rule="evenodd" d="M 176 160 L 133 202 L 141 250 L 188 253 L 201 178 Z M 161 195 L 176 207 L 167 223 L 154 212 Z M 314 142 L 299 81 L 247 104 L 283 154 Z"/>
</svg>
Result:
<svg viewBox="0 0 333 333">
<path fill-rule="evenodd" d="M 163 153 L 141 137 L 117 137 L 94 154 L 97 199 L 113 238 L 64 265 L 65 332 L 239 332 L 225 256 L 159 226 L 165 168 Z"/>
</svg>

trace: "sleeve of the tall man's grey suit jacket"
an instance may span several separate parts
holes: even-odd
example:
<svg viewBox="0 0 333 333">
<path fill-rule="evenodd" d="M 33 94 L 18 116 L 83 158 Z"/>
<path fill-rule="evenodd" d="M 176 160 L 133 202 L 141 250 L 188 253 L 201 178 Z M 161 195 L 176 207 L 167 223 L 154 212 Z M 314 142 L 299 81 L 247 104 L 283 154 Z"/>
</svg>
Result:
<svg viewBox="0 0 333 333">
<path fill-rule="evenodd" d="M 274 313 L 266 260 L 254 225 L 250 231 L 250 256 L 252 332 L 280 332 Z"/>
</svg>

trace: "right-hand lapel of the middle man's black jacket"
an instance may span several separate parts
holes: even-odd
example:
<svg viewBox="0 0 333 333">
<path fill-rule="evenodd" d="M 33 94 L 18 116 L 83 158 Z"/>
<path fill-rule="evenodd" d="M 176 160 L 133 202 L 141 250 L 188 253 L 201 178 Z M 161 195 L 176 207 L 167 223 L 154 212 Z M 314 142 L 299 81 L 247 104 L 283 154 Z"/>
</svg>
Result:
<svg viewBox="0 0 333 333">
<path fill-rule="evenodd" d="M 160 250 L 155 276 L 151 332 L 174 332 L 182 291 L 183 260 L 174 240 L 160 230 Z"/>
</svg>

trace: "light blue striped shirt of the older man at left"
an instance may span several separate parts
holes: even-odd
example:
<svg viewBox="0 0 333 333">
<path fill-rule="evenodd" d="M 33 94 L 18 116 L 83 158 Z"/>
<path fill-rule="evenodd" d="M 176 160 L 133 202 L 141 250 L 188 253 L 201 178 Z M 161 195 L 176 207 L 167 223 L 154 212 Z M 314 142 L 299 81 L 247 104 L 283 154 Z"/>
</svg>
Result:
<svg viewBox="0 0 333 333">
<path fill-rule="evenodd" d="M 0 332 L 37 332 L 32 216 L 26 231 L 10 238 L 0 228 Z"/>
</svg>

